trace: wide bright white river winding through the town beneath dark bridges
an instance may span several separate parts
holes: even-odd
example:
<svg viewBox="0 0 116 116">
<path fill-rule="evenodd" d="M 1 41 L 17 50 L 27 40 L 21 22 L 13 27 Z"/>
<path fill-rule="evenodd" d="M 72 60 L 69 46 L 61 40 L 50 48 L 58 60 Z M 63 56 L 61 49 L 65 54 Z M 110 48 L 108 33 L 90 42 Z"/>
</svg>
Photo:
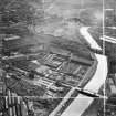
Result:
<svg viewBox="0 0 116 116">
<path fill-rule="evenodd" d="M 91 44 L 91 48 L 102 50 L 97 42 L 88 33 L 88 27 L 82 27 L 80 29 L 81 34 Z M 107 76 L 107 57 L 102 54 L 95 54 L 97 59 L 97 70 L 93 78 L 87 83 L 84 89 L 98 93 L 101 86 L 105 83 Z M 67 107 L 67 109 L 62 114 L 62 116 L 82 116 L 83 113 L 93 103 L 93 97 L 87 97 L 85 95 L 78 94 L 78 96 L 73 101 L 73 103 Z"/>
</svg>

